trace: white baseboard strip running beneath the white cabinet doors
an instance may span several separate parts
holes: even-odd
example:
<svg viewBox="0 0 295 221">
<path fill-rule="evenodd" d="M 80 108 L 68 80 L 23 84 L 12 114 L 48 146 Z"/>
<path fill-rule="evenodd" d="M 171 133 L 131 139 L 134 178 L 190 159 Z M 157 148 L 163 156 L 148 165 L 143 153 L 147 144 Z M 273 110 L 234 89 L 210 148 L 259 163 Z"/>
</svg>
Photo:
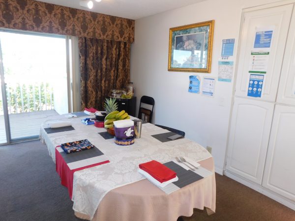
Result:
<svg viewBox="0 0 295 221">
<path fill-rule="evenodd" d="M 289 207 L 290 209 L 295 210 L 295 202 L 293 202 L 290 199 L 285 198 L 284 196 L 281 196 L 277 193 L 273 193 L 272 191 L 266 189 L 265 187 L 262 187 L 258 184 L 247 181 L 239 176 L 234 175 L 233 173 L 230 173 L 229 171 L 225 170 L 224 175 L 230 177 L 233 180 L 236 180 L 237 182 L 239 182 L 239 183 L 241 183 L 241 184 L 243 184 L 243 185 L 259 192 L 259 193 L 262 193 L 262 194 L 268 196 L 269 198 Z"/>
</svg>

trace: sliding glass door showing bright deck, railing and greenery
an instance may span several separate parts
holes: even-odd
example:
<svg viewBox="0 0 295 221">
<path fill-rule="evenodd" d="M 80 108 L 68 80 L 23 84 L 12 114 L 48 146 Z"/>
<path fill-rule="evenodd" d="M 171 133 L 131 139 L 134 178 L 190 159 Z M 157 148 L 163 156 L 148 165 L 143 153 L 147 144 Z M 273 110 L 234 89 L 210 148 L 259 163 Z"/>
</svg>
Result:
<svg viewBox="0 0 295 221">
<path fill-rule="evenodd" d="M 42 122 L 70 111 L 65 36 L 0 30 L 0 43 L 6 100 L 0 125 L 6 117 L 9 141 L 35 138 Z M 2 130 L 0 143 L 7 137 Z"/>
</svg>

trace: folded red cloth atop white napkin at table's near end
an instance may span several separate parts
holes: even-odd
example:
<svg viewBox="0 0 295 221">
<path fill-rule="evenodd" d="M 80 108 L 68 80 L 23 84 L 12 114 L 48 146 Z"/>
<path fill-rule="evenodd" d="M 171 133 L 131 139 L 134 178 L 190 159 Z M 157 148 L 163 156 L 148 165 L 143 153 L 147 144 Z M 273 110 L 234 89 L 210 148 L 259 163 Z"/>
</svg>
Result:
<svg viewBox="0 0 295 221">
<path fill-rule="evenodd" d="M 140 164 L 139 168 L 146 171 L 149 175 L 151 175 L 160 183 L 176 177 L 175 171 L 157 161 L 149 161 L 147 163 Z"/>
</svg>

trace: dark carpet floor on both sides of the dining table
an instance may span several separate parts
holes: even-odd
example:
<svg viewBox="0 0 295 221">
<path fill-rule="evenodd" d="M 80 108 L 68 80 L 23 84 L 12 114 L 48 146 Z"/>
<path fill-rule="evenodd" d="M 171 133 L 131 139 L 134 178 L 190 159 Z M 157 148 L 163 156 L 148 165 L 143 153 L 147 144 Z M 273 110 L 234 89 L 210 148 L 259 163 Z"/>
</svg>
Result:
<svg viewBox="0 0 295 221">
<path fill-rule="evenodd" d="M 0 146 L 0 221 L 81 221 L 39 140 Z M 216 174 L 216 213 L 194 210 L 184 221 L 295 221 L 295 211 Z"/>
</svg>

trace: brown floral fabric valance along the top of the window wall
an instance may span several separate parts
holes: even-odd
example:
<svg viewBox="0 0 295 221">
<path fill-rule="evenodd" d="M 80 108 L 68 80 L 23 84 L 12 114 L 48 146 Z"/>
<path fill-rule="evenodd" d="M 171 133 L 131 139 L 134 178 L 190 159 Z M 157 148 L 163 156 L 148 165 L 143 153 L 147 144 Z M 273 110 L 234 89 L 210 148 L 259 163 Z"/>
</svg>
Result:
<svg viewBox="0 0 295 221">
<path fill-rule="evenodd" d="M 35 0 L 0 0 L 0 27 L 134 42 L 134 20 Z"/>
</svg>

